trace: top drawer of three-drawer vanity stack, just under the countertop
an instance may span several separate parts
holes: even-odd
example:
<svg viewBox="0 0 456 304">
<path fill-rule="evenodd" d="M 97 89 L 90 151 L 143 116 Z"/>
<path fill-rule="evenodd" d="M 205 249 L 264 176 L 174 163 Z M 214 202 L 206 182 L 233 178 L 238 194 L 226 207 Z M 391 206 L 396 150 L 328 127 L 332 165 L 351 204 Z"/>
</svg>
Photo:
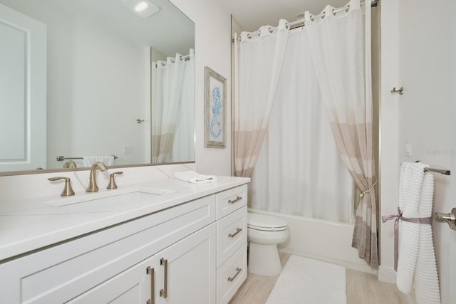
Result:
<svg viewBox="0 0 456 304">
<path fill-rule="evenodd" d="M 247 205 L 247 184 L 217 193 L 217 219 Z"/>
</svg>

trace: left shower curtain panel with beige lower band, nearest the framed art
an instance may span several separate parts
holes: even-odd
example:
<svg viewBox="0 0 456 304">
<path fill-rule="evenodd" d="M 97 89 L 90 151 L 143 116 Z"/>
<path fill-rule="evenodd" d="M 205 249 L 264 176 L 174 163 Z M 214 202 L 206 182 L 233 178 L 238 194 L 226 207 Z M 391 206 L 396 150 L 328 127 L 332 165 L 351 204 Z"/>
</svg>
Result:
<svg viewBox="0 0 456 304">
<path fill-rule="evenodd" d="M 284 61 L 288 40 L 286 20 L 279 21 L 274 35 L 269 32 L 269 26 L 264 26 L 260 28 L 260 38 L 250 41 L 249 34 L 242 33 L 241 40 L 245 43 L 239 49 L 242 68 L 237 92 L 241 95 L 234 98 L 234 168 L 237 177 L 250 177 L 266 134 Z"/>
</svg>

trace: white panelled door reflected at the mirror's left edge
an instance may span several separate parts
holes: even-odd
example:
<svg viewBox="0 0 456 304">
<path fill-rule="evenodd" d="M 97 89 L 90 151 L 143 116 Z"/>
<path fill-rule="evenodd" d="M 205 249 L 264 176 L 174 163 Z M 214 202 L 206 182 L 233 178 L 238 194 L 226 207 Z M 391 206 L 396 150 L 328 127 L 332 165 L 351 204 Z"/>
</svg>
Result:
<svg viewBox="0 0 456 304">
<path fill-rule="evenodd" d="M 0 41 L 0 172 L 46 169 L 46 25 L 0 4 Z"/>
</svg>

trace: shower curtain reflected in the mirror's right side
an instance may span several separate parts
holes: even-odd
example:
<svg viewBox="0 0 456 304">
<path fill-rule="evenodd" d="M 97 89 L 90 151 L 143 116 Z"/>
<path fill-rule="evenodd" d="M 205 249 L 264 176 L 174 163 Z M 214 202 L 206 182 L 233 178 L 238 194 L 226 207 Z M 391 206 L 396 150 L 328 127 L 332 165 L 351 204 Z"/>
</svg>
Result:
<svg viewBox="0 0 456 304">
<path fill-rule="evenodd" d="M 195 51 L 152 63 L 152 163 L 195 159 Z M 190 118 L 191 120 L 193 118 Z"/>
</svg>

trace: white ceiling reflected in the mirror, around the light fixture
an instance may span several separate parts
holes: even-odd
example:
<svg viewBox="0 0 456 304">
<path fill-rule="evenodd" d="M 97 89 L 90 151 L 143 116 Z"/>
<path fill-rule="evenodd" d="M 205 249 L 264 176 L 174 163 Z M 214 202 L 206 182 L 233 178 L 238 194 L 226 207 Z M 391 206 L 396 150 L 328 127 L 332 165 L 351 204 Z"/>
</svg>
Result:
<svg viewBox="0 0 456 304">
<path fill-rule="evenodd" d="M 195 23 L 170 1 L 153 2 L 160 11 L 142 19 L 125 9 L 121 0 L 0 0 L 0 4 L 44 23 L 48 16 L 61 16 L 74 24 L 84 22 L 139 46 L 152 46 L 165 56 L 187 54 L 189 48 L 195 48 Z"/>
</svg>

